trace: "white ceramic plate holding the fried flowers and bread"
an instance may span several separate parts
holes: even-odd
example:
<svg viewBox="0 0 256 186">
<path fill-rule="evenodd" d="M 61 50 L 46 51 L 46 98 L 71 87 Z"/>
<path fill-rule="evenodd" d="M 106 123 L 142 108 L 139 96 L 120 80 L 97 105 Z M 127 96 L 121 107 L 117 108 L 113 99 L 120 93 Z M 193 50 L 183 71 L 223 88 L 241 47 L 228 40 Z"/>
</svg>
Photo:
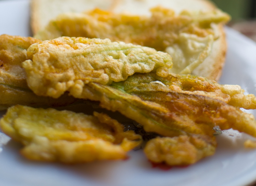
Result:
<svg viewBox="0 0 256 186">
<path fill-rule="evenodd" d="M 0 1 L 0 18 L 0 34 L 31 35 L 28 0 Z M 220 83 L 238 84 L 256 94 L 256 44 L 230 28 L 227 37 L 227 62 Z M 19 154 L 21 146 L 0 133 L 0 185 L 245 186 L 256 180 L 256 150 L 244 149 L 247 137 L 226 131 L 217 138 L 214 156 L 186 168 L 163 171 L 152 168 L 142 151 L 132 151 L 126 161 L 82 165 L 28 161 Z"/>
</svg>

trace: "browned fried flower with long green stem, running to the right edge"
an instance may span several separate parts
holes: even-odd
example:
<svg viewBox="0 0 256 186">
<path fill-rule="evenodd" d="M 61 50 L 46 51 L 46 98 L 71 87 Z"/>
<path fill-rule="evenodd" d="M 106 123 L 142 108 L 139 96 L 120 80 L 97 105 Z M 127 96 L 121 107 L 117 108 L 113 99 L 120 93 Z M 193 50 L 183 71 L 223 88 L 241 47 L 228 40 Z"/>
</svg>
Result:
<svg viewBox="0 0 256 186">
<path fill-rule="evenodd" d="M 146 131 L 163 136 L 188 133 L 211 136 L 216 125 L 222 130 L 233 128 L 256 136 L 256 121 L 252 114 L 218 99 L 171 91 L 144 91 L 138 94 L 140 97 L 134 94 L 138 93 L 128 94 L 122 89 L 89 83 L 84 85 L 80 98 L 100 101 L 102 107 L 119 111 L 142 124 Z"/>
</svg>

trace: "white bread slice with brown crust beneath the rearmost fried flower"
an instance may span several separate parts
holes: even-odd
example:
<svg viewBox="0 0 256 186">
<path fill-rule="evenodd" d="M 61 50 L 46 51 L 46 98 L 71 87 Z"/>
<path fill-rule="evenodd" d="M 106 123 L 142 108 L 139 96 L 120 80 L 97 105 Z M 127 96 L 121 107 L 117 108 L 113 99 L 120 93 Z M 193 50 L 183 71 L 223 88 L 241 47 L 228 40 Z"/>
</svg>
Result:
<svg viewBox="0 0 256 186">
<path fill-rule="evenodd" d="M 84 12 L 94 8 L 150 15 L 150 8 L 157 5 L 173 9 L 176 13 L 182 10 L 206 12 L 216 9 L 214 4 L 206 0 L 31 0 L 31 26 L 36 34 L 60 13 Z M 192 74 L 218 81 L 225 62 L 227 44 L 223 25 L 213 24 L 213 27 L 215 36 L 219 38 L 214 41 L 211 54 Z"/>
</svg>

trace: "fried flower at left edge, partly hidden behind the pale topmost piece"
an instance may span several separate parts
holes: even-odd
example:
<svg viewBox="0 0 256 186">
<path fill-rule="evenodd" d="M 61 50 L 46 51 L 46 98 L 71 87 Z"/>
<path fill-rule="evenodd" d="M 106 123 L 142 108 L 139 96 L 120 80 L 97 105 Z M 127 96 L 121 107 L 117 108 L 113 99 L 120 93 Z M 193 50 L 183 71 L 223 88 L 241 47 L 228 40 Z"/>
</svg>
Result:
<svg viewBox="0 0 256 186">
<path fill-rule="evenodd" d="M 59 99 L 37 96 L 28 88 L 27 75 L 21 63 L 27 49 L 40 40 L 32 37 L 0 35 L 0 110 L 16 104 L 29 106 L 65 106 L 77 99 L 64 94 Z"/>
</svg>

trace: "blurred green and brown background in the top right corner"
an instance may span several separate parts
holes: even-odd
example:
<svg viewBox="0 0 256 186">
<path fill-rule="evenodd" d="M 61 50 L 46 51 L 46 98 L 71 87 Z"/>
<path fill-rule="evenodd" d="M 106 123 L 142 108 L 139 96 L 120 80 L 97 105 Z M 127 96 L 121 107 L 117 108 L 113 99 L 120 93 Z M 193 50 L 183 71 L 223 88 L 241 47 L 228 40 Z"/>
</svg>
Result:
<svg viewBox="0 0 256 186">
<path fill-rule="evenodd" d="M 256 41 L 256 0 L 212 0 L 231 15 L 228 26 Z"/>
</svg>

